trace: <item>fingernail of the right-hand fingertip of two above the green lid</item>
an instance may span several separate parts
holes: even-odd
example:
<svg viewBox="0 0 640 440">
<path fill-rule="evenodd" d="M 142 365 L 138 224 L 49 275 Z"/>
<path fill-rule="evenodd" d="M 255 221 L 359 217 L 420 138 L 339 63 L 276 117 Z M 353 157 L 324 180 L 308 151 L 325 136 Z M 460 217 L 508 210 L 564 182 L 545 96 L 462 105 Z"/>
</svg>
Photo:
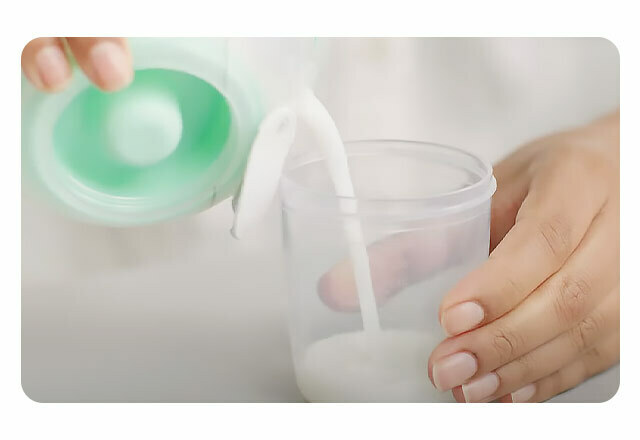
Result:
<svg viewBox="0 0 640 440">
<path fill-rule="evenodd" d="M 126 86 L 133 79 L 133 69 L 124 49 L 111 41 L 102 41 L 91 48 L 91 63 L 105 90 Z"/>
</svg>

